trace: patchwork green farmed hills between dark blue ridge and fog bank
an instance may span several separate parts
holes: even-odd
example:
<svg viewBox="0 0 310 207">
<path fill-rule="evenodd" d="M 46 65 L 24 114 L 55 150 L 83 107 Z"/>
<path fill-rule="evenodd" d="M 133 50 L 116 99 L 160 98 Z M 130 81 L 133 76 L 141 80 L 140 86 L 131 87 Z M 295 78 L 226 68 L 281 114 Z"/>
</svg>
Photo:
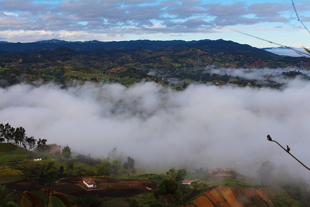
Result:
<svg viewBox="0 0 310 207">
<path fill-rule="evenodd" d="M 206 48 L 178 48 L 152 51 L 143 48 L 109 51 L 55 50 L 0 54 L 0 86 L 20 82 L 70 84 L 85 81 L 118 82 L 132 85 L 139 81 L 154 81 L 176 89 L 184 83 L 232 83 L 261 86 L 253 80 L 228 75 L 211 74 L 206 67 L 216 68 L 308 68 L 309 58 L 262 56 L 248 51 L 208 51 Z M 268 86 L 279 87 L 268 83 Z"/>
</svg>

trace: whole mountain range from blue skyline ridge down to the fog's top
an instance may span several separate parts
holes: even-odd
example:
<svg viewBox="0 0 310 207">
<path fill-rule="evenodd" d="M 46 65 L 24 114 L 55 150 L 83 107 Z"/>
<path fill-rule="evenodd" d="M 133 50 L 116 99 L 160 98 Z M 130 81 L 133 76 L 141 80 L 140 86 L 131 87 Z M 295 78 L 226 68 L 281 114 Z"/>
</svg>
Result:
<svg viewBox="0 0 310 207">
<path fill-rule="evenodd" d="M 309 58 L 277 55 L 222 39 L 0 42 L 0 86 L 38 80 L 58 83 L 92 80 L 124 85 L 148 80 L 180 87 L 191 82 L 256 85 L 240 77 L 210 74 L 205 70 L 207 67 L 294 70 L 308 68 Z"/>
</svg>

